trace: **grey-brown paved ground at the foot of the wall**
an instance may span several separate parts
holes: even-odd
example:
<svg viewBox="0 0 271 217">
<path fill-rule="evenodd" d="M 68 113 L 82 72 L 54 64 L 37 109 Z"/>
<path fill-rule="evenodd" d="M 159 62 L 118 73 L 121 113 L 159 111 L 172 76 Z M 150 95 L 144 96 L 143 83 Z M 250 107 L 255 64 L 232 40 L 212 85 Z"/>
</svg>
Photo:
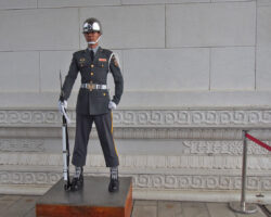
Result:
<svg viewBox="0 0 271 217">
<path fill-rule="evenodd" d="M 0 195 L 0 217 L 35 217 L 39 196 Z M 271 205 L 266 206 L 271 210 Z M 134 201 L 132 217 L 270 217 L 258 206 L 257 214 L 241 215 L 227 203 Z"/>
</svg>

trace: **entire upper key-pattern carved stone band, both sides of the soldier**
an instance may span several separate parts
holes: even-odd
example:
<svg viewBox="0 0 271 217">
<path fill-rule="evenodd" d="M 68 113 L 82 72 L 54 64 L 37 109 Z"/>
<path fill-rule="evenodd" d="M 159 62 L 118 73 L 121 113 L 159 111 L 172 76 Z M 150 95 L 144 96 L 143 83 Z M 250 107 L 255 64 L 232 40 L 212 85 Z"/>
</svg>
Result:
<svg viewBox="0 0 271 217">
<path fill-rule="evenodd" d="M 68 112 L 75 122 L 75 111 Z M 270 110 L 116 110 L 116 126 L 270 126 Z M 0 125 L 60 124 L 61 115 L 52 110 L 2 110 Z"/>
</svg>

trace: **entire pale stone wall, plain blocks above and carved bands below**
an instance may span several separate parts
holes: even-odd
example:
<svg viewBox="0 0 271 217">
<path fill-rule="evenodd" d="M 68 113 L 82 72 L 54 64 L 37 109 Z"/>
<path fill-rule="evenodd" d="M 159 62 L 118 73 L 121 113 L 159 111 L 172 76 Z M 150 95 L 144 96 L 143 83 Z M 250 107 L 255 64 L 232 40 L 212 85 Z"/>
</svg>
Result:
<svg viewBox="0 0 271 217">
<path fill-rule="evenodd" d="M 270 0 L 0 0 L 0 192 L 41 194 L 61 178 L 59 72 L 86 48 L 90 16 L 120 59 L 114 135 L 134 196 L 238 200 L 242 129 L 271 140 Z M 249 200 L 271 201 L 270 163 L 249 142 Z M 86 173 L 108 175 L 95 130 Z"/>
</svg>

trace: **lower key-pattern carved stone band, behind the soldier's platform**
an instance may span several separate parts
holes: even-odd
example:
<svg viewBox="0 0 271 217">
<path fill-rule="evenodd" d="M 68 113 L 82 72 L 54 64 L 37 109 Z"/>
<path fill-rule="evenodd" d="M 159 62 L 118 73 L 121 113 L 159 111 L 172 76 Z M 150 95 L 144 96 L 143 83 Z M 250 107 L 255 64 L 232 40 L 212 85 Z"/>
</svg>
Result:
<svg viewBox="0 0 271 217">
<path fill-rule="evenodd" d="M 242 183 L 238 176 L 130 175 L 133 177 L 133 187 L 140 189 L 237 190 L 241 189 Z M 0 184 L 52 186 L 61 178 L 61 173 L 0 171 Z M 271 178 L 268 176 L 248 176 L 247 180 L 248 190 L 271 190 Z"/>
</svg>

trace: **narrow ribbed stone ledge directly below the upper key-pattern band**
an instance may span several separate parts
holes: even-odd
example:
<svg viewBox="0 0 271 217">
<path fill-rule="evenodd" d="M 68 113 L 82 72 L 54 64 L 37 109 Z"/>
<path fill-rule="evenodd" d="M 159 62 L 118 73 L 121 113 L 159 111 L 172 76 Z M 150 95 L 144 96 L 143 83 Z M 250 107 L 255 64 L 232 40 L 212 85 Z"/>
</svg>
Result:
<svg viewBox="0 0 271 217">
<path fill-rule="evenodd" d="M 241 142 L 241 128 L 184 128 L 184 127 L 114 127 L 115 139 L 184 139 L 184 140 L 203 140 L 208 141 L 224 141 L 224 142 Z M 271 130 L 262 128 L 253 128 L 249 133 L 264 142 L 271 140 Z M 68 126 L 69 139 L 75 138 L 75 126 Z M 0 137 L 7 140 L 44 140 L 44 139 L 61 139 L 61 125 L 54 127 L 1 127 Z M 98 132 L 93 125 L 90 137 L 98 139 Z"/>
</svg>

